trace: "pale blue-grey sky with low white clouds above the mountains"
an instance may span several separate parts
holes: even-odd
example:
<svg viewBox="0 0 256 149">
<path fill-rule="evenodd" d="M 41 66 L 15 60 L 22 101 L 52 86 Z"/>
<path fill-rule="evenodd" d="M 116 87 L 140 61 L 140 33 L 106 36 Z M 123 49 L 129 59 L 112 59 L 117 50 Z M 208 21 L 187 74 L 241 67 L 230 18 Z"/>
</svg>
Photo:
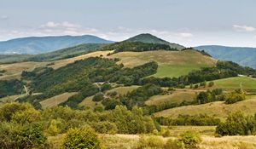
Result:
<svg viewBox="0 0 256 149">
<path fill-rule="evenodd" d="M 187 47 L 256 47 L 255 0 L 0 0 L 0 41 L 151 33 Z"/>
</svg>

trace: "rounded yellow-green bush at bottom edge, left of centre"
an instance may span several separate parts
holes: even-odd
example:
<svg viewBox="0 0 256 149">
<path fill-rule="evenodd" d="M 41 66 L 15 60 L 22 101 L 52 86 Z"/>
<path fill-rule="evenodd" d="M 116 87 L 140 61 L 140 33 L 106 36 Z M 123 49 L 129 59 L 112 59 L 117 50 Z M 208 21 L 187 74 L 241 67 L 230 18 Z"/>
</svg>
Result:
<svg viewBox="0 0 256 149">
<path fill-rule="evenodd" d="M 62 148 L 66 149 L 100 149 L 100 141 L 92 129 L 69 129 Z"/>
</svg>

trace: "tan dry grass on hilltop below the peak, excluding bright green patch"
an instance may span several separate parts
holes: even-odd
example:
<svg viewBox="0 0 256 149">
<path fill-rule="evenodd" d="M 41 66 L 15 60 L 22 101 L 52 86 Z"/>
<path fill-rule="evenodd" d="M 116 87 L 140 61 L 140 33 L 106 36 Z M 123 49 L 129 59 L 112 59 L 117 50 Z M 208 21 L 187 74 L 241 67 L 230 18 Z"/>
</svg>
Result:
<svg viewBox="0 0 256 149">
<path fill-rule="evenodd" d="M 217 60 L 214 60 L 208 56 L 204 56 L 201 53 L 193 50 L 120 52 L 117 54 L 111 54 L 108 57 L 119 58 L 119 63 L 122 63 L 127 67 L 140 66 L 147 63 L 148 61 L 156 61 L 159 64 L 169 65 L 198 64 L 207 66 L 214 66 L 217 62 Z"/>
</svg>

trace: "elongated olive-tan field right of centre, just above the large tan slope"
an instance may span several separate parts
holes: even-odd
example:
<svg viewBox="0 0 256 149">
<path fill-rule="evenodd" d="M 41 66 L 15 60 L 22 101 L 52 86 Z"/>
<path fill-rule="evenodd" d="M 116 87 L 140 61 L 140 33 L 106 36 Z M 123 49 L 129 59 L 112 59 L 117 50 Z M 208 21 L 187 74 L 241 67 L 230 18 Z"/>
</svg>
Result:
<svg viewBox="0 0 256 149">
<path fill-rule="evenodd" d="M 181 103 L 183 100 L 193 100 L 195 92 L 193 91 L 175 91 L 171 95 L 154 95 L 146 101 L 146 105 L 160 105 L 165 102 Z"/>
</svg>

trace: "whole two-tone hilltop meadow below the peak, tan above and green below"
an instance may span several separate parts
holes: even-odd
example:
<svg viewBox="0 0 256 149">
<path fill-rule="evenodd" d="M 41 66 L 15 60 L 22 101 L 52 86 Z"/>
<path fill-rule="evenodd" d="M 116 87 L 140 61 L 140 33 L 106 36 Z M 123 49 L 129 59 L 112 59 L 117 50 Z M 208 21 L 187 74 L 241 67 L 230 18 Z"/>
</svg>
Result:
<svg viewBox="0 0 256 149">
<path fill-rule="evenodd" d="M 154 77 L 179 77 L 188 74 L 192 70 L 216 64 L 216 60 L 193 50 L 120 52 L 108 57 L 119 58 L 119 63 L 126 67 L 140 66 L 149 61 L 156 61 L 159 68 L 157 73 L 153 75 Z"/>
</svg>

